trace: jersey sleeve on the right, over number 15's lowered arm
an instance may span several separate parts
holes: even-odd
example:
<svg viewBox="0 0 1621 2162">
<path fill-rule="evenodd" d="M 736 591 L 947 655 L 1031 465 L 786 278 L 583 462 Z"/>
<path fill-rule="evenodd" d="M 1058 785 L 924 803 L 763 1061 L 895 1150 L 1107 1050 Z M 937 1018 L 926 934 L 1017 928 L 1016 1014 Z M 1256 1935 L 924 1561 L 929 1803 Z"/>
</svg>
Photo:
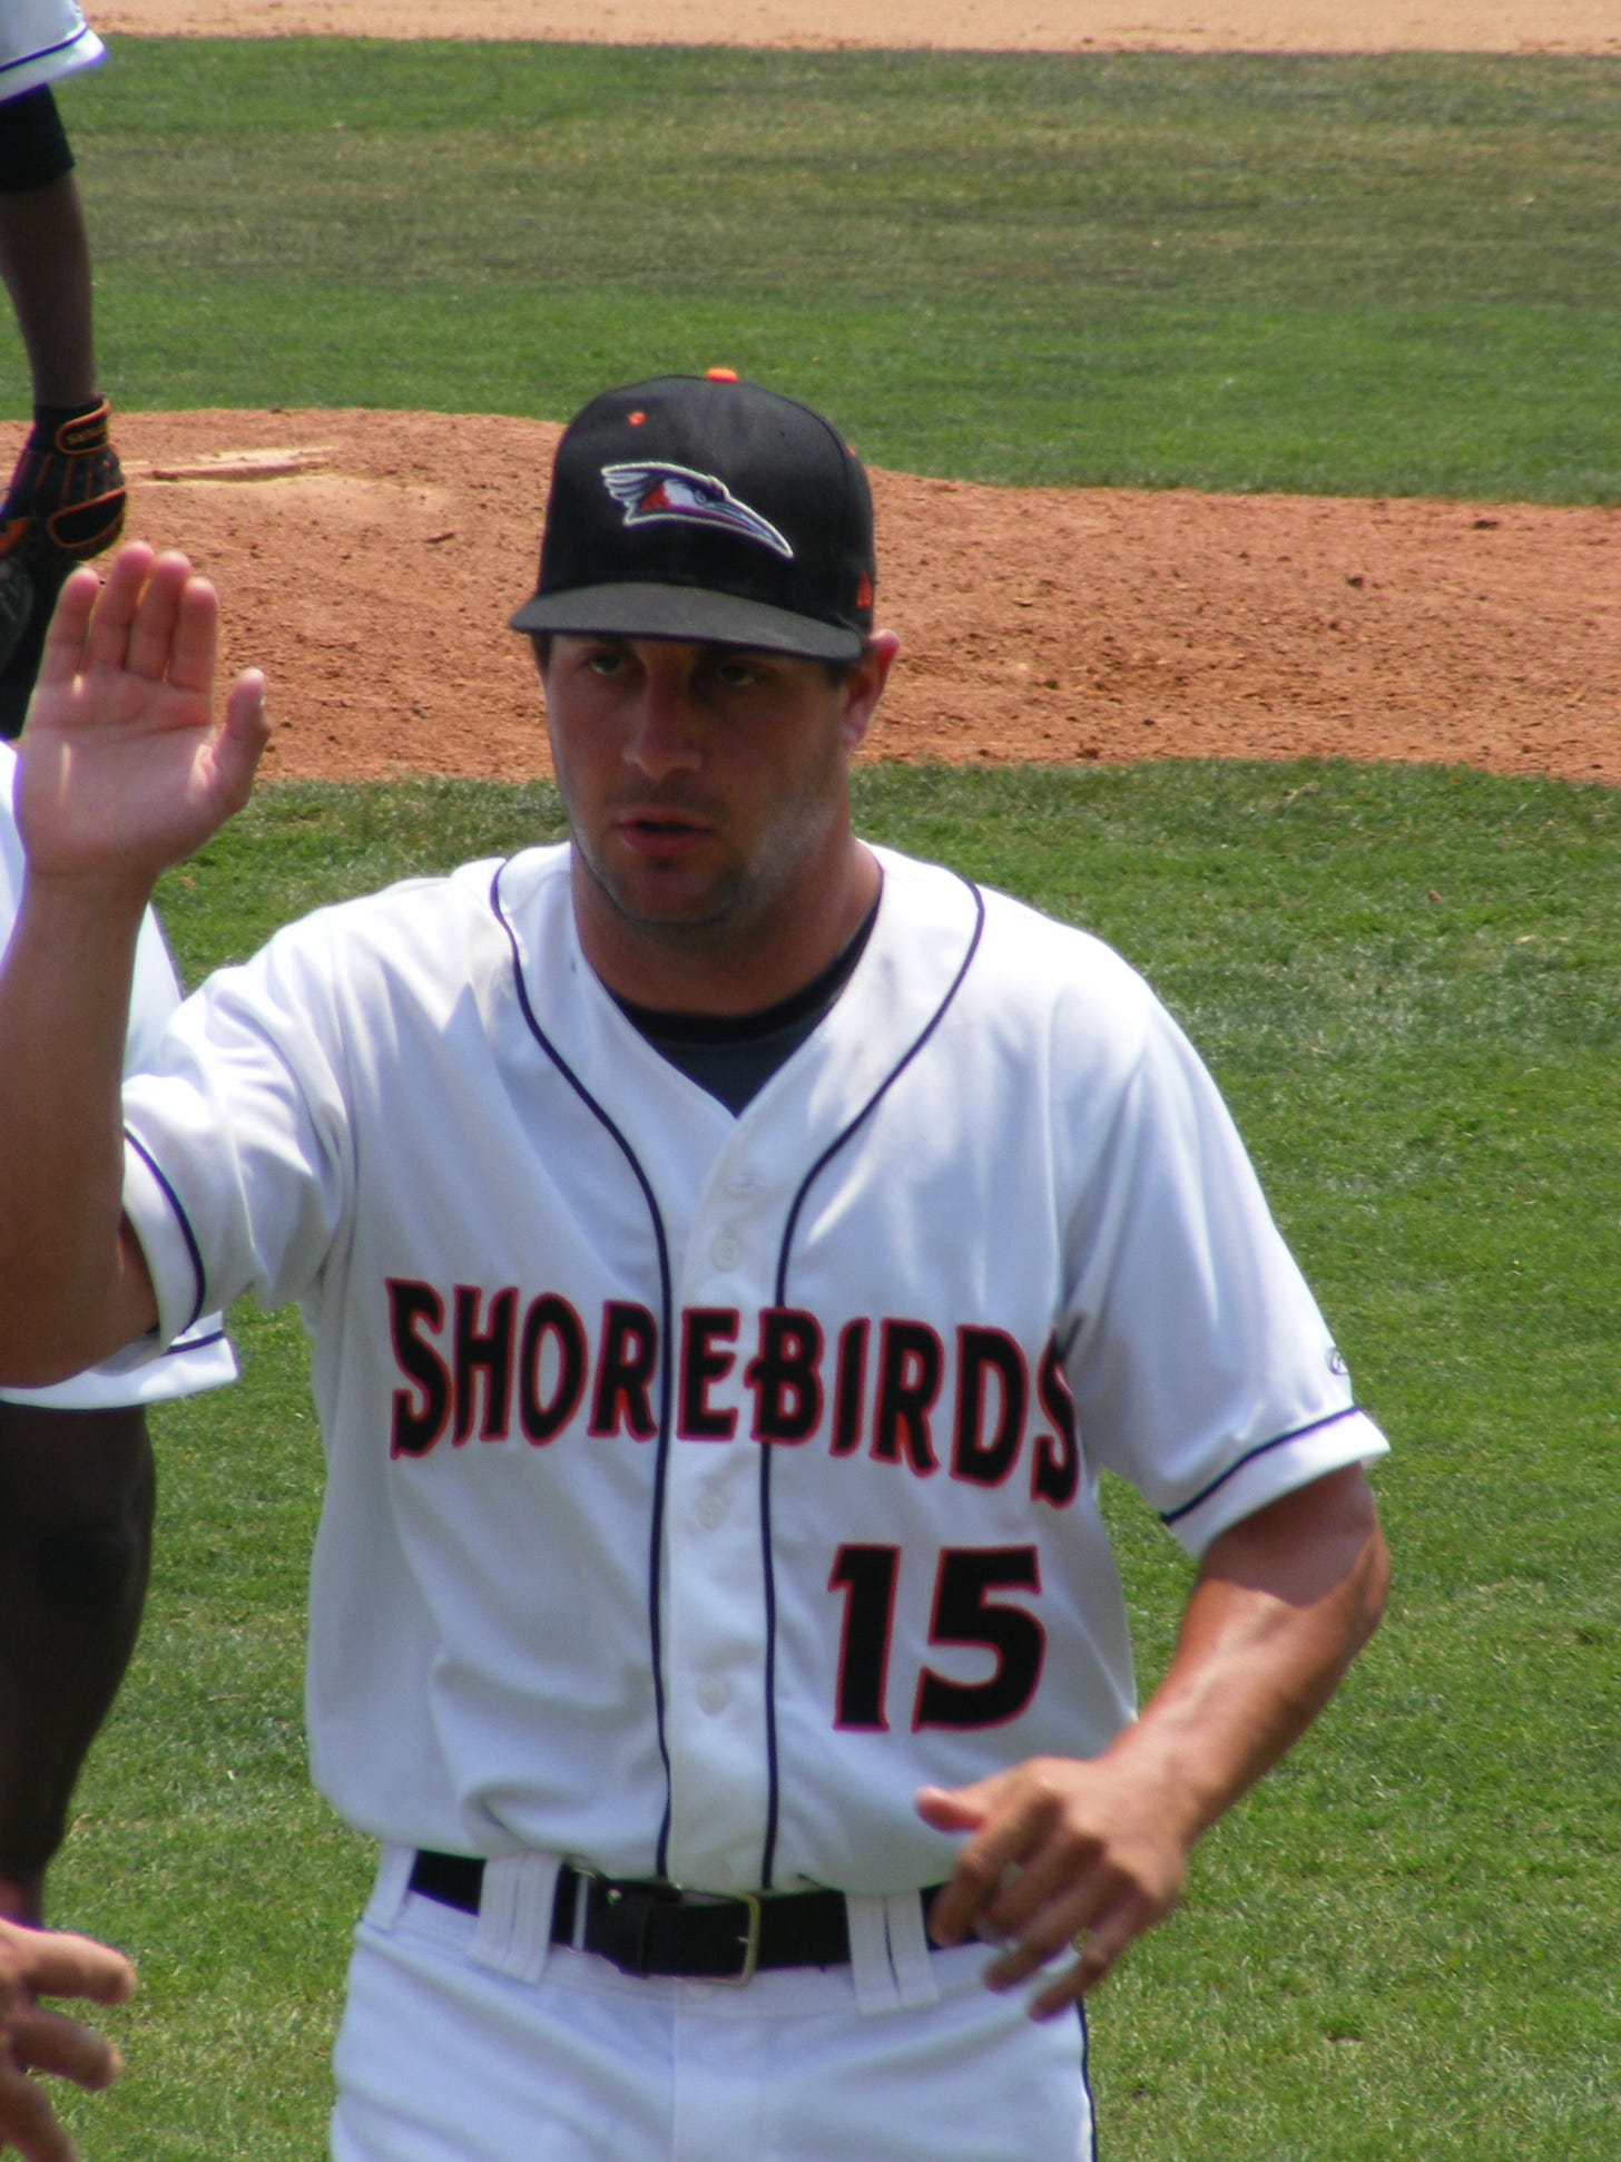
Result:
<svg viewBox="0 0 1621 2162">
<path fill-rule="evenodd" d="M 1388 1444 L 1215 1081 L 1146 986 L 1139 1023 L 1072 1213 L 1066 1373 L 1087 1453 L 1197 1554 Z"/>
</svg>

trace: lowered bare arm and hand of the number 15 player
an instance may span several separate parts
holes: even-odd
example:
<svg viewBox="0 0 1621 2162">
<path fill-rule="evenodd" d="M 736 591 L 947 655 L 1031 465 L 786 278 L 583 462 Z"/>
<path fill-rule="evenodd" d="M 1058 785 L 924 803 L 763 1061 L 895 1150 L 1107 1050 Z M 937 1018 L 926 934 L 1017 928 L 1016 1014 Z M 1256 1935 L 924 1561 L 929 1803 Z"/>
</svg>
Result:
<svg viewBox="0 0 1621 2162">
<path fill-rule="evenodd" d="M 1031 2000 L 1050 2017 L 1102 1980 L 1161 1922 L 1189 1855 L 1338 1689 L 1383 1611 L 1388 1559 L 1368 1481 L 1331 1472 L 1217 1537 L 1176 1654 L 1141 1719 L 1091 1760 L 1040 1758 L 919 1810 L 966 1833 L 932 1933 L 1003 1946 L 988 1972 L 1012 1989 L 1074 1959 Z"/>
</svg>

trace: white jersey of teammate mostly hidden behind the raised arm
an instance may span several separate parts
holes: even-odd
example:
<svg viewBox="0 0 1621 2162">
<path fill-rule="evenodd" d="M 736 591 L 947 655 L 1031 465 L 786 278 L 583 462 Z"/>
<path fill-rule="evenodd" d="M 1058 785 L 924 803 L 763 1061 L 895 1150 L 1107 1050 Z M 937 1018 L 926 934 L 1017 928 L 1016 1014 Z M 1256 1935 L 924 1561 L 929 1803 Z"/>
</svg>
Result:
<svg viewBox="0 0 1621 2162">
<path fill-rule="evenodd" d="M 17 776 L 17 755 L 11 744 L 0 744 L 0 938 L 11 934 L 22 897 L 22 841 L 11 806 L 11 791 Z M 123 1068 L 132 1072 L 145 1064 L 179 1005 L 179 984 L 169 951 L 158 930 L 158 919 L 147 912 L 136 945 L 134 990 L 130 992 L 130 1031 L 123 1044 Z M 6 1388 L 0 1401 L 35 1403 L 58 1412 L 104 1412 L 128 1403 L 160 1403 L 166 1397 L 192 1397 L 203 1388 L 218 1388 L 236 1379 L 236 1358 L 225 1338 L 225 1323 L 216 1312 L 199 1314 L 197 1323 L 175 1343 L 166 1345 L 160 1358 L 138 1358 L 134 1364 L 115 1362 L 80 1373 L 71 1382 L 54 1388 Z"/>
</svg>

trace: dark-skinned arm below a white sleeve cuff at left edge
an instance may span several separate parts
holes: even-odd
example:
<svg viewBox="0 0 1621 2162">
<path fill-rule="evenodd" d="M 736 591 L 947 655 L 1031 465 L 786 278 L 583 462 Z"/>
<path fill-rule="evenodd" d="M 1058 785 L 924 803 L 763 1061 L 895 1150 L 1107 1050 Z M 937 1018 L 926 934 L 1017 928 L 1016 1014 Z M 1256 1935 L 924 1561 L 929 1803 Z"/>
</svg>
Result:
<svg viewBox="0 0 1621 2162">
<path fill-rule="evenodd" d="M 145 1414 L 0 1403 L 0 1916 L 39 1922 L 151 1563 Z"/>
</svg>

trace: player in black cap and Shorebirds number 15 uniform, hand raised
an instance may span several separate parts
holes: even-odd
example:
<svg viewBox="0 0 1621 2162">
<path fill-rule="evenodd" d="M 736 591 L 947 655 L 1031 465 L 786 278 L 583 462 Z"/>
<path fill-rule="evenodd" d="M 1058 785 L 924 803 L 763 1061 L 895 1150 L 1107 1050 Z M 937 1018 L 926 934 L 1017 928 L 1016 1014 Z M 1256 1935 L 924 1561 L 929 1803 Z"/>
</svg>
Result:
<svg viewBox="0 0 1621 2162">
<path fill-rule="evenodd" d="M 380 1842 L 337 2162 L 1091 2153 L 1085 1991 L 1377 1622 L 1385 1442 L 1180 1029 L 852 830 L 873 584 L 817 413 L 592 400 L 512 618 L 571 839 L 290 925 L 123 1094 L 264 681 L 216 726 L 182 556 L 63 592 L 0 1373 L 307 1321 L 313 1769 Z M 1141 1714 L 1102 1470 L 1197 1557 Z"/>
</svg>

